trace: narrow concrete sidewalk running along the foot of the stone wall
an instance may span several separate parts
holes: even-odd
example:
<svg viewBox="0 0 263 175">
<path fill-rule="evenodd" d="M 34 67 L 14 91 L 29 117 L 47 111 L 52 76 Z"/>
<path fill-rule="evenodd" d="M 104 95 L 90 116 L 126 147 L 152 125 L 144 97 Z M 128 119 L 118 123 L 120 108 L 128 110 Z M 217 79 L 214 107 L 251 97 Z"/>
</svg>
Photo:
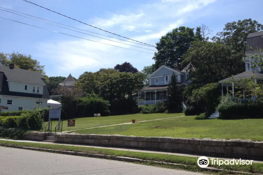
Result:
<svg viewBox="0 0 263 175">
<path fill-rule="evenodd" d="M 101 149 L 111 149 L 111 150 L 120 150 L 120 151 L 131 151 L 131 152 L 141 152 L 141 153 L 157 153 L 157 154 L 167 154 L 167 155 L 179 155 L 179 156 L 186 156 L 186 157 L 200 157 L 200 155 L 191 155 L 191 154 L 182 154 L 182 153 L 169 153 L 169 152 L 161 152 L 161 151 L 148 151 L 148 150 L 138 150 L 138 149 L 129 149 L 129 148 L 114 148 L 114 147 L 103 147 L 103 146 L 89 146 L 89 145 L 76 145 L 76 144 L 65 144 L 65 143 L 52 143 L 52 142 L 44 142 L 44 141 L 30 141 L 30 140 L 10 140 L 10 139 L 0 139 L 4 141 L 15 141 L 15 142 L 27 142 L 27 143 L 44 143 L 50 145 L 66 145 L 66 146 L 81 146 L 81 147 L 88 147 L 88 148 L 101 148 Z M 228 158 L 221 158 L 221 157 L 208 157 L 208 158 L 220 158 L 223 160 L 232 160 Z M 263 161 L 253 161 L 257 163 L 263 163 Z"/>
</svg>

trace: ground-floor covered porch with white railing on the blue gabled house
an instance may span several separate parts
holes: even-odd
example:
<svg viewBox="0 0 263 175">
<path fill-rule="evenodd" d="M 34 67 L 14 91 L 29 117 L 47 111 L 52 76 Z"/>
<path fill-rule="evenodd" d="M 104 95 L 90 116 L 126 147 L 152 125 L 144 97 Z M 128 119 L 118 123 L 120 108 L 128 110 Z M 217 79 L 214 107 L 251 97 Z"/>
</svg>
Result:
<svg viewBox="0 0 263 175">
<path fill-rule="evenodd" d="M 138 106 L 144 104 L 156 104 L 158 101 L 167 100 L 167 88 L 138 91 Z"/>
</svg>

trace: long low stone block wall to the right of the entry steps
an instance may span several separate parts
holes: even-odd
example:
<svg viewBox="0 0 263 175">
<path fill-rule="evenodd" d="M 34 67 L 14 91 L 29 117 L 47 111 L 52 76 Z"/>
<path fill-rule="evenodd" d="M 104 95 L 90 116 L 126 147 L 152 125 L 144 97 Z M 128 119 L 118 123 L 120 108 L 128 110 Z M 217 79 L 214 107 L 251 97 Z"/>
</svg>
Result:
<svg viewBox="0 0 263 175">
<path fill-rule="evenodd" d="M 55 134 L 55 142 L 160 150 L 212 157 L 263 160 L 263 141 L 241 139 L 187 139 L 98 134 Z"/>
</svg>

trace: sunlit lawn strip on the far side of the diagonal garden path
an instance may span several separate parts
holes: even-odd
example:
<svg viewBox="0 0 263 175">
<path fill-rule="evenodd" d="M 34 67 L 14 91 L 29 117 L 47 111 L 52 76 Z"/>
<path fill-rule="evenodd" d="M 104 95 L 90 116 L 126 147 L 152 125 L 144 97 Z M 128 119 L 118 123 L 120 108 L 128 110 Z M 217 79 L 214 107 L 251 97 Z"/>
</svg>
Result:
<svg viewBox="0 0 263 175">
<path fill-rule="evenodd" d="M 131 114 L 131 115 L 115 115 L 108 117 L 85 117 L 85 118 L 76 118 L 75 126 L 68 127 L 69 119 L 63 122 L 63 131 L 69 131 L 74 129 L 83 129 L 90 127 L 98 127 L 105 125 L 114 125 L 119 123 L 128 123 L 131 122 L 131 119 L 135 119 L 136 121 L 143 120 L 153 120 L 158 118 L 169 118 L 169 117 L 177 117 L 180 115 L 184 115 L 184 113 L 174 113 L 174 114 L 165 114 L 165 113 L 155 113 L 155 114 Z M 45 125 L 48 122 L 45 122 Z M 55 127 L 58 125 L 58 121 L 52 122 L 52 132 L 55 131 Z"/>
</svg>

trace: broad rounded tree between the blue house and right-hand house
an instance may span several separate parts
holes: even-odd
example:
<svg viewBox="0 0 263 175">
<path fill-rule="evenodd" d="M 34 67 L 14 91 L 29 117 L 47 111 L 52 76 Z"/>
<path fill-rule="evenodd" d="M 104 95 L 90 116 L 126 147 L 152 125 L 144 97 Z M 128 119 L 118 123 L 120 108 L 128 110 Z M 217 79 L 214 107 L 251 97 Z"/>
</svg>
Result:
<svg viewBox="0 0 263 175">
<path fill-rule="evenodd" d="M 195 41 L 183 59 L 192 63 L 194 69 L 189 76 L 199 87 L 245 71 L 242 54 L 233 54 L 229 46 L 221 43 Z"/>
</svg>

